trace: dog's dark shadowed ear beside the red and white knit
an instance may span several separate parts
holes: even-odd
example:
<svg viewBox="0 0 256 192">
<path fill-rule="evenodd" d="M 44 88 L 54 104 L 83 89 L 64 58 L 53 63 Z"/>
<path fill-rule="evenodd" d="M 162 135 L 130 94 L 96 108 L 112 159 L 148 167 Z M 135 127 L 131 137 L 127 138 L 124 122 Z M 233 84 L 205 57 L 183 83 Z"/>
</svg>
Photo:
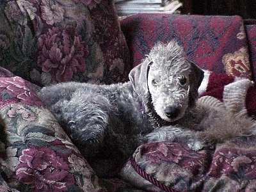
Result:
<svg viewBox="0 0 256 192">
<path fill-rule="evenodd" d="M 198 97 L 198 88 L 204 79 L 204 71 L 195 63 L 190 62 L 191 72 L 189 74 L 189 107 L 195 106 Z"/>
</svg>

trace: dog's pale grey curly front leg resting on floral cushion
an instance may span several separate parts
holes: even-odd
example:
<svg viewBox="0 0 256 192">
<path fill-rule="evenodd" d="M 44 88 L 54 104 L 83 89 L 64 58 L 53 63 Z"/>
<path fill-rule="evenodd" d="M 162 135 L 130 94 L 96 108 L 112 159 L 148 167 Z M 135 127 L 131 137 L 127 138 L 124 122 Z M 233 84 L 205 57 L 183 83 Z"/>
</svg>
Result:
<svg viewBox="0 0 256 192">
<path fill-rule="evenodd" d="M 187 145 L 193 150 L 200 150 L 205 147 L 203 141 L 198 140 L 196 132 L 184 130 L 180 127 L 166 126 L 159 127 L 146 135 L 147 141 L 171 141 Z"/>
</svg>

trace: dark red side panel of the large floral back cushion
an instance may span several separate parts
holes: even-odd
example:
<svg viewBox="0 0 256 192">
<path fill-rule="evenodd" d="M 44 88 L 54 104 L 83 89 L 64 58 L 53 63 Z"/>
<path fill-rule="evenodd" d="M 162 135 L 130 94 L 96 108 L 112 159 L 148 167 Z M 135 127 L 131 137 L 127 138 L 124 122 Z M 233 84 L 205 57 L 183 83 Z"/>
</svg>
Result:
<svg viewBox="0 0 256 192">
<path fill-rule="evenodd" d="M 94 24 L 95 41 L 99 44 L 107 67 L 105 83 L 128 80 L 131 70 L 129 49 L 121 31 L 114 1 L 101 1 L 90 10 Z"/>
</svg>

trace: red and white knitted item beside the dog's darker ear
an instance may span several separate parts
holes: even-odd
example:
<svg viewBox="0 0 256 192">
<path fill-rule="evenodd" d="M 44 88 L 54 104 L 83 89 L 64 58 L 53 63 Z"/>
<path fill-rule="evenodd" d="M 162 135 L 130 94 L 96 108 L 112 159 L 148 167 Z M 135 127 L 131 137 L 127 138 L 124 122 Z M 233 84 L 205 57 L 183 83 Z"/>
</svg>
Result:
<svg viewBox="0 0 256 192">
<path fill-rule="evenodd" d="M 253 93 L 249 88 L 253 87 L 252 81 L 249 79 L 232 77 L 228 74 L 215 74 L 214 72 L 206 71 L 204 80 L 198 90 L 200 97 L 211 96 L 221 102 L 225 108 L 238 116 L 248 115 L 248 109 L 255 111 L 256 108 L 252 108 L 248 104 L 253 99 Z M 248 99 L 250 97 L 250 99 Z M 252 115 L 252 112 L 250 112 Z"/>
</svg>

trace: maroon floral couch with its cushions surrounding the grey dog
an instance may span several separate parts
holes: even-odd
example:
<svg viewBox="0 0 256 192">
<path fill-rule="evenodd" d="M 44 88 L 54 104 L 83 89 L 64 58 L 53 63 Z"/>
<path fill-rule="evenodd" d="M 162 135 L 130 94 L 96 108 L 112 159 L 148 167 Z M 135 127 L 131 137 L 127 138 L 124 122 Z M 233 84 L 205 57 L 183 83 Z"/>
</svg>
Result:
<svg viewBox="0 0 256 192">
<path fill-rule="evenodd" d="M 115 177 L 101 178 L 36 95 L 58 82 L 127 81 L 156 42 L 173 38 L 211 71 L 201 96 L 225 103 L 234 87 L 236 104 L 256 115 L 254 86 L 239 92 L 244 86 L 233 84 L 256 78 L 254 20 L 164 13 L 118 19 L 113 0 L 0 1 L 0 191 L 256 191 L 254 135 L 198 152 L 147 143 Z"/>
</svg>

